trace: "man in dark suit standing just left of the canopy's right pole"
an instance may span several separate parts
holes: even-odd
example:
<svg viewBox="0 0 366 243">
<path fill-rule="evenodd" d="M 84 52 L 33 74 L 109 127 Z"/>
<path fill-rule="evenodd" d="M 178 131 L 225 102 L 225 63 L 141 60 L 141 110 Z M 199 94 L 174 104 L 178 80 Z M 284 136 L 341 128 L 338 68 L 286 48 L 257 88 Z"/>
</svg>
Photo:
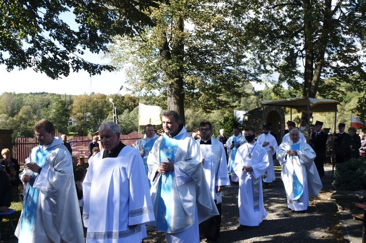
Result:
<svg viewBox="0 0 366 243">
<path fill-rule="evenodd" d="M 322 131 L 323 122 L 315 122 L 315 131 L 311 134 L 310 143 L 311 147 L 316 153 L 314 163 L 318 170 L 319 176 L 324 176 L 324 161 L 326 158 L 326 140 L 328 135 Z"/>
</svg>

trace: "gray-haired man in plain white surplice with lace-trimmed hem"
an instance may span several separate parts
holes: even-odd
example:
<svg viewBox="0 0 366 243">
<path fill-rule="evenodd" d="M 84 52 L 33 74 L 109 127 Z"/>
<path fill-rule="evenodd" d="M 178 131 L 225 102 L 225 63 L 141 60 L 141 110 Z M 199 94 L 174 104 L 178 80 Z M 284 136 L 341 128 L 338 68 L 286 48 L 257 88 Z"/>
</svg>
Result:
<svg viewBox="0 0 366 243">
<path fill-rule="evenodd" d="M 104 151 L 95 155 L 82 184 L 86 242 L 142 242 L 145 223 L 155 219 L 141 155 L 122 144 L 114 122 L 103 123 L 99 136 Z"/>
</svg>

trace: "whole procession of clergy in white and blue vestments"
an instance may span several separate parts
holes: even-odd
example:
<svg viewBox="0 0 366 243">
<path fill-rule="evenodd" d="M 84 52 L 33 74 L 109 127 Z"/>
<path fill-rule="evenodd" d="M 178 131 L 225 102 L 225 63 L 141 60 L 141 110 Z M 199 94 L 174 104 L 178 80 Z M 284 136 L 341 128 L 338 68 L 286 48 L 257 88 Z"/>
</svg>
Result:
<svg viewBox="0 0 366 243">
<path fill-rule="evenodd" d="M 140 243 L 147 237 L 145 225 L 165 232 L 168 243 L 218 241 L 229 174 L 232 183 L 239 183 L 238 230 L 258 226 L 267 216 L 263 186 L 275 180 L 275 153 L 289 209 L 306 210 L 309 195 L 322 188 L 317 154 L 297 129 L 289 129 L 288 139 L 277 147 L 269 124 L 257 139 L 251 126 L 243 134 L 234 128 L 228 139 L 221 130 L 215 139 L 211 123 L 204 121 L 195 140 L 179 114 L 166 111 L 163 135 L 146 125 L 133 148 L 122 144 L 116 123 L 106 122 L 99 128 L 104 150 L 95 155 L 82 183 L 84 236 L 71 156 L 54 137 L 52 123 L 44 120 L 34 129 L 39 145 L 20 173 L 25 190 L 16 236 L 21 243 L 81 243 L 84 238 L 88 243 Z"/>
</svg>

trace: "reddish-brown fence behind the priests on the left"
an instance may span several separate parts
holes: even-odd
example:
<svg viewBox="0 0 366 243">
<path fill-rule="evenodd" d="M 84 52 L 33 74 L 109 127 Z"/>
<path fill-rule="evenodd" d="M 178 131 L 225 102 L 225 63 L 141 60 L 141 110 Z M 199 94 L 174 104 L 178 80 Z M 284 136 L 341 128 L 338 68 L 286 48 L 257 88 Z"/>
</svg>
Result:
<svg viewBox="0 0 366 243">
<path fill-rule="evenodd" d="M 56 136 L 61 136 L 61 133 L 56 133 Z M 132 135 L 132 136 L 131 136 Z M 132 146 L 138 139 L 140 139 L 142 134 L 128 134 L 121 135 L 121 142 L 127 146 Z M 68 139 L 71 145 L 72 156 L 79 158 L 81 155 L 85 156 L 85 162 L 89 158 L 88 144 L 93 141 L 92 136 L 77 136 Z M 26 158 L 29 157 L 31 150 L 38 145 L 37 138 L 34 137 L 21 137 L 16 138 L 13 144 L 13 157 L 16 158 L 20 165 L 24 164 Z M 99 145 L 101 145 L 99 143 Z"/>
</svg>

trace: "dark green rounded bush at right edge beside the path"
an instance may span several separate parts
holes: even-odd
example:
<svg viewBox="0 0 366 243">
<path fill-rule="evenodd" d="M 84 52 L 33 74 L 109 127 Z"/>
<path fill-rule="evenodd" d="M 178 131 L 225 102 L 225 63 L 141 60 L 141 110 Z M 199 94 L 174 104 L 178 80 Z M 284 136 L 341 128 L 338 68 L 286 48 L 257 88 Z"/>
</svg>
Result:
<svg viewBox="0 0 366 243">
<path fill-rule="evenodd" d="M 348 162 L 337 164 L 332 185 L 337 189 L 365 189 L 366 158 L 351 159 Z"/>
</svg>

